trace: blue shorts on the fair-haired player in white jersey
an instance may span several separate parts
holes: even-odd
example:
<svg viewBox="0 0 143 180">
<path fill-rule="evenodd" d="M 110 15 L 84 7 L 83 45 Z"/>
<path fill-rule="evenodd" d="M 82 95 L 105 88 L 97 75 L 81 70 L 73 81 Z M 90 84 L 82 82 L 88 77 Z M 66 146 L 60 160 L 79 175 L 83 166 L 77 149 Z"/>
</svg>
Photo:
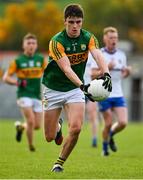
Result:
<svg viewBox="0 0 143 180">
<path fill-rule="evenodd" d="M 124 97 L 107 98 L 104 101 L 98 103 L 100 111 L 106 111 L 107 109 L 114 107 L 126 107 Z"/>
</svg>

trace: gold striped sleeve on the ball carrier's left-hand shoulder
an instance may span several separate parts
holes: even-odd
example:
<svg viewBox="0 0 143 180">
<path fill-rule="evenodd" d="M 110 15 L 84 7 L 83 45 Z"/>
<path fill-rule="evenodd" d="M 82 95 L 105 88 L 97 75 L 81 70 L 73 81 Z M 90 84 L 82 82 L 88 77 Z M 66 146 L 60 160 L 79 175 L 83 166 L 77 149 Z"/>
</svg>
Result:
<svg viewBox="0 0 143 180">
<path fill-rule="evenodd" d="M 55 40 L 51 40 L 49 44 L 49 56 L 57 61 L 66 56 L 63 45 Z"/>
</svg>

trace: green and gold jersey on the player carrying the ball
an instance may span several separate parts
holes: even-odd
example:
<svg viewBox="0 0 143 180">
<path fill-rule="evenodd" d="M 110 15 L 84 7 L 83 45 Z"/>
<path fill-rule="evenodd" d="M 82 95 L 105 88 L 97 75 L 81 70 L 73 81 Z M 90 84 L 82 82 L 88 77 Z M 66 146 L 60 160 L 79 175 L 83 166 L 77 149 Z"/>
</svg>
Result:
<svg viewBox="0 0 143 180">
<path fill-rule="evenodd" d="M 76 85 L 66 77 L 56 61 L 67 56 L 71 68 L 81 81 L 83 81 L 88 51 L 94 48 L 98 48 L 98 41 L 93 34 L 86 30 L 82 29 L 80 36 L 77 38 L 70 38 L 66 30 L 56 34 L 49 44 L 49 62 L 44 71 L 43 84 L 50 89 L 61 92 L 77 88 Z"/>
</svg>

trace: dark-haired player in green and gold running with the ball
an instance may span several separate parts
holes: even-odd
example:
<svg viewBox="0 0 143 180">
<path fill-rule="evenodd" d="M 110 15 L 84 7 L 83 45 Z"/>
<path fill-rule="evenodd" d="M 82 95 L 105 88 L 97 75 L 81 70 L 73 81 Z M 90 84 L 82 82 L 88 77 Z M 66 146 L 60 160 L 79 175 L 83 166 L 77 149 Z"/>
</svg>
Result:
<svg viewBox="0 0 143 180">
<path fill-rule="evenodd" d="M 83 9 L 78 4 L 70 4 L 64 11 L 65 29 L 52 37 L 49 44 L 49 64 L 44 71 L 44 129 L 48 142 L 59 139 L 61 132 L 58 119 L 62 108 L 68 121 L 68 136 L 65 138 L 59 158 L 52 171 L 62 172 L 63 164 L 75 147 L 85 110 L 85 95 L 88 85 L 83 84 L 83 74 L 90 51 L 100 67 L 104 79 L 103 86 L 112 89 L 108 66 L 98 49 L 96 37 L 82 29 Z M 61 138 L 60 138 L 61 139 Z M 62 143 L 62 141 L 60 141 Z"/>
</svg>

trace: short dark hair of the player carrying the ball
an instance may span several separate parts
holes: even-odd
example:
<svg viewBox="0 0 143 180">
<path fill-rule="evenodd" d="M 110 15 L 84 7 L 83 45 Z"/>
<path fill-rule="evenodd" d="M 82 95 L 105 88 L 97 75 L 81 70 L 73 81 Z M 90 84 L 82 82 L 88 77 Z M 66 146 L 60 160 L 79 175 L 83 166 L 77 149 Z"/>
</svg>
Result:
<svg viewBox="0 0 143 180">
<path fill-rule="evenodd" d="M 69 4 L 64 9 L 64 18 L 67 17 L 81 17 L 83 18 L 83 9 L 79 4 Z"/>
</svg>

